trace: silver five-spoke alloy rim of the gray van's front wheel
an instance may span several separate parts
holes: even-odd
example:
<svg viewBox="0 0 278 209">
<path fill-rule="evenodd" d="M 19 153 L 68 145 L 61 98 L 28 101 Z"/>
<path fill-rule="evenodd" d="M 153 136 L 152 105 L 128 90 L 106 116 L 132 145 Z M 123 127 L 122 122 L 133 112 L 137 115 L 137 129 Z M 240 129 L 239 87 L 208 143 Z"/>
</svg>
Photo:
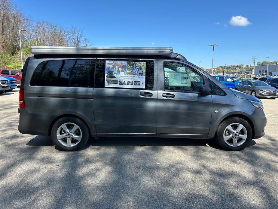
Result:
<svg viewBox="0 0 278 209">
<path fill-rule="evenodd" d="M 232 123 L 225 128 L 223 137 L 227 145 L 238 147 L 246 141 L 247 130 L 240 123 Z"/>
</svg>

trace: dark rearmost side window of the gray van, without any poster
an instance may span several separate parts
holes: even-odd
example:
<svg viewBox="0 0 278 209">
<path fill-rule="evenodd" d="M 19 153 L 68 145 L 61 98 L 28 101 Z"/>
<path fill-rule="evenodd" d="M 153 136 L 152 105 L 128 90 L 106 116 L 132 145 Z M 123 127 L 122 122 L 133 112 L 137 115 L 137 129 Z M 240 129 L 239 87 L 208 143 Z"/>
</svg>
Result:
<svg viewBox="0 0 278 209">
<path fill-rule="evenodd" d="M 93 87 L 95 59 L 49 60 L 35 69 L 31 86 Z"/>
</svg>

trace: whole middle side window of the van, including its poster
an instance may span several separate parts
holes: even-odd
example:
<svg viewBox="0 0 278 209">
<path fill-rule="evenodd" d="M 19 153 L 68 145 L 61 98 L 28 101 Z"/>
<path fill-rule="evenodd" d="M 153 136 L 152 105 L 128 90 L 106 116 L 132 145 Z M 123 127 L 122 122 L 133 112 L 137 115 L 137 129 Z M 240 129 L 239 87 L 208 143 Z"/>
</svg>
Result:
<svg viewBox="0 0 278 209">
<path fill-rule="evenodd" d="M 96 88 L 154 88 L 152 60 L 96 60 Z"/>
</svg>

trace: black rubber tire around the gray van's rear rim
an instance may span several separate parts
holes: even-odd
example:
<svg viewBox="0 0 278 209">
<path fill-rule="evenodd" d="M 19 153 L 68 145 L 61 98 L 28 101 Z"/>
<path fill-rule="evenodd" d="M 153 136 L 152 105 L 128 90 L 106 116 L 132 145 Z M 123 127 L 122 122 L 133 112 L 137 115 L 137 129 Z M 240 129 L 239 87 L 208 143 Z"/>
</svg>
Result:
<svg viewBox="0 0 278 209">
<path fill-rule="evenodd" d="M 82 138 L 81 138 L 80 142 L 78 144 L 76 144 L 75 146 L 72 146 L 72 147 L 64 146 L 57 139 L 58 128 L 61 125 L 63 125 L 64 123 L 75 123 L 81 129 Z M 76 150 L 81 149 L 87 143 L 87 141 L 89 139 L 89 129 L 82 120 L 80 120 L 76 117 L 63 117 L 63 118 L 57 120 L 56 123 L 54 123 L 54 125 L 51 129 L 51 139 L 59 150 L 76 151 Z"/>
</svg>

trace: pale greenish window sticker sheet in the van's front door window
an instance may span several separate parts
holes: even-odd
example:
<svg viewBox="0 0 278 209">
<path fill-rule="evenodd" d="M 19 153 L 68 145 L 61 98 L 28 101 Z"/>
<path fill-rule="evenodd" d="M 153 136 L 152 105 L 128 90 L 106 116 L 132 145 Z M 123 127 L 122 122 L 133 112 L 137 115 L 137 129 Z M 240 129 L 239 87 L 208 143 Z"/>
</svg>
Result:
<svg viewBox="0 0 278 209">
<path fill-rule="evenodd" d="M 190 72 L 170 72 L 169 86 L 191 86 Z"/>
</svg>

